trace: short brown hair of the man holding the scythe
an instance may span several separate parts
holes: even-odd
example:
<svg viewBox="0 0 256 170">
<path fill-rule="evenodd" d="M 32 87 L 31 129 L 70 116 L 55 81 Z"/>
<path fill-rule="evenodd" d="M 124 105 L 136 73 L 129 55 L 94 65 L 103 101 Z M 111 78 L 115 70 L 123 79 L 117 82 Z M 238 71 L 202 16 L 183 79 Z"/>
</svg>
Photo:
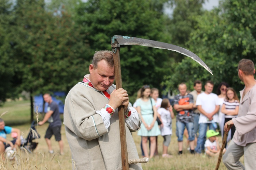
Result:
<svg viewBox="0 0 256 170">
<path fill-rule="evenodd" d="M 95 68 L 98 67 L 98 62 L 101 60 L 105 60 L 106 63 L 110 66 L 110 67 L 114 67 L 114 60 L 113 60 L 113 52 L 109 51 L 109 50 L 102 50 L 102 51 L 95 51 L 95 54 L 93 56 L 93 61 L 91 62 L 91 64 L 93 64 L 93 66 Z"/>
</svg>

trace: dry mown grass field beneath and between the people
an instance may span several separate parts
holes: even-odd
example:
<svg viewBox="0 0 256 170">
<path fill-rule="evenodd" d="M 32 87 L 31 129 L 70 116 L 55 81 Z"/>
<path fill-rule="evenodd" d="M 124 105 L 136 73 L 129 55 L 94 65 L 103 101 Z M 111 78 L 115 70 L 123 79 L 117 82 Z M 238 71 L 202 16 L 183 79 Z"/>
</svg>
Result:
<svg viewBox="0 0 256 170">
<path fill-rule="evenodd" d="M 0 114 L 8 111 L 2 116 L 5 120 L 7 126 L 12 126 L 13 128 L 18 128 L 26 137 L 30 130 L 30 103 L 29 101 L 15 101 L 6 102 L 3 107 L 0 107 Z M 35 118 L 35 116 L 34 116 Z M 39 120 L 42 119 L 42 115 L 39 116 Z M 63 120 L 63 115 L 61 115 Z M 48 127 L 48 123 L 42 126 L 37 126 L 38 133 L 41 138 L 34 140 L 38 142 L 37 150 L 34 150 L 32 154 L 26 152 L 17 152 L 17 159 L 15 161 L 0 161 L 0 169 L 72 169 L 71 152 L 65 135 L 65 128 L 62 125 L 61 135 L 64 142 L 64 155 L 59 154 L 58 142 L 55 141 L 54 137 L 51 138 L 52 145 L 54 148 L 54 154 L 48 153 L 48 148 L 44 140 L 45 131 Z M 204 169 L 215 169 L 217 164 L 217 157 L 207 157 L 203 154 L 191 155 L 189 151 L 186 150 L 186 138 L 184 138 L 183 155 L 178 155 L 177 147 L 177 137 L 175 135 L 175 120 L 173 120 L 173 135 L 171 138 L 171 143 L 168 148 L 168 153 L 172 154 L 172 158 L 162 158 L 160 155 L 162 153 L 162 141 L 163 138 L 158 136 L 158 152 L 159 156 L 155 156 L 150 159 L 146 164 L 142 164 L 144 170 L 175 170 L 175 169 L 186 169 L 186 170 L 204 170 Z M 136 143 L 137 151 L 141 157 L 140 141 L 141 137 L 134 132 L 133 139 Z M 219 137 L 219 142 L 222 141 L 221 136 Z M 11 136 L 8 136 L 11 140 Z M 243 157 L 241 158 L 243 163 Z M 86 168 L 85 168 L 86 169 Z M 226 169 L 224 164 L 221 163 L 219 169 Z"/>
</svg>

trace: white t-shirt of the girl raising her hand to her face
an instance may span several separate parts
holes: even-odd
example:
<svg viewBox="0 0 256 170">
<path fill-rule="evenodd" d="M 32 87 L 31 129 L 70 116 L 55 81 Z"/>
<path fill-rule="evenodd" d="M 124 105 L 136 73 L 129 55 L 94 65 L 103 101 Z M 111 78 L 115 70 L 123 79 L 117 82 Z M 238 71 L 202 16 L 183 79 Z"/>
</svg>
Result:
<svg viewBox="0 0 256 170">
<path fill-rule="evenodd" d="M 165 108 L 159 108 L 157 110 L 159 115 L 161 116 L 163 127 L 160 128 L 161 135 L 171 135 L 172 134 L 172 118 L 171 113 L 169 110 L 166 110 Z"/>
</svg>

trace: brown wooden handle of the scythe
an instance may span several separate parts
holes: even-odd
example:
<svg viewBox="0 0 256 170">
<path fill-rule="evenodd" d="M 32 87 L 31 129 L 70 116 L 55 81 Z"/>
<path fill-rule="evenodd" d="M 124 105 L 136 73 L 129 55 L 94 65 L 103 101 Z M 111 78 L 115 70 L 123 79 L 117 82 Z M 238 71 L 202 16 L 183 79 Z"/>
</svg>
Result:
<svg viewBox="0 0 256 170">
<path fill-rule="evenodd" d="M 115 40 L 115 44 L 118 44 L 116 40 Z M 113 48 L 116 89 L 122 88 L 122 77 L 121 77 L 119 51 L 120 51 L 120 47 Z M 122 166 L 123 166 L 123 170 L 128 170 L 129 163 L 128 163 L 128 152 L 127 152 L 127 144 L 126 144 L 124 106 L 118 107 L 118 117 L 119 117 Z"/>
</svg>

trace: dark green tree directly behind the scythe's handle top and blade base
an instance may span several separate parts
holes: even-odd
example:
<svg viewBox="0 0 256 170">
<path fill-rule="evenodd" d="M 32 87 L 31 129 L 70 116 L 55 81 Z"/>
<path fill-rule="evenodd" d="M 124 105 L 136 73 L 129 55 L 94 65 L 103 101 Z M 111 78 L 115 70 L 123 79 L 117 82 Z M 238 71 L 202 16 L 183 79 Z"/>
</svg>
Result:
<svg viewBox="0 0 256 170">
<path fill-rule="evenodd" d="M 125 35 L 170 43 L 163 14 L 164 0 L 88 0 L 77 6 L 77 24 L 95 50 L 112 50 L 111 37 Z M 123 87 L 136 93 L 143 84 L 160 88 L 164 74 L 170 74 L 170 52 L 142 46 L 121 46 Z"/>
</svg>

